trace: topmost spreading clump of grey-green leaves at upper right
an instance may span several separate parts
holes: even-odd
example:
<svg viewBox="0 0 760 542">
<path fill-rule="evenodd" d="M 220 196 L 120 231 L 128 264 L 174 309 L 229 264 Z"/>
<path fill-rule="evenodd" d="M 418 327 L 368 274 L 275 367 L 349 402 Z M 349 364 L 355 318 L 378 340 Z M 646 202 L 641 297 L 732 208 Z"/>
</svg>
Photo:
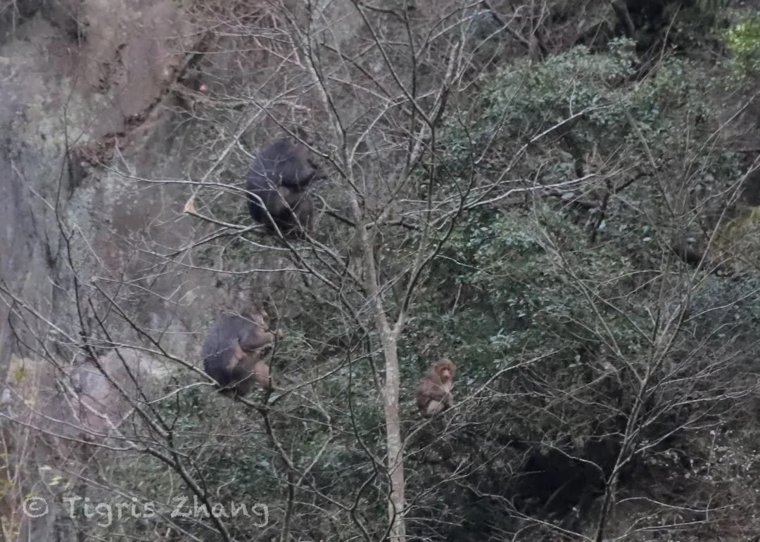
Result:
<svg viewBox="0 0 760 542">
<path fill-rule="evenodd" d="M 618 160 L 621 171 L 652 159 L 705 159 L 701 151 L 690 154 L 683 139 L 714 129 L 705 118 L 711 111 L 706 91 L 715 83 L 693 61 L 677 57 L 635 81 L 636 62 L 635 44 L 618 39 L 610 52 L 576 47 L 540 65 L 518 62 L 498 71 L 485 82 L 477 109 L 445 125 L 448 169 L 466 175 L 470 147 L 486 142 L 490 168 L 510 168 L 508 178 L 540 184 L 575 178 L 578 160 L 590 153 Z M 524 152 L 527 140 L 534 146 Z"/>
</svg>

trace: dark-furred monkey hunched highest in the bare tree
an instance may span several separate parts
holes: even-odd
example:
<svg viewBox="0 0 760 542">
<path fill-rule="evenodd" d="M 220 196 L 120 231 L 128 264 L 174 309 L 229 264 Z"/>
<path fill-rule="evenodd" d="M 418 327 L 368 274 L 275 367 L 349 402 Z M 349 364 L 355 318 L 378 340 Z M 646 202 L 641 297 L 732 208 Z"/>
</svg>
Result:
<svg viewBox="0 0 760 542">
<path fill-rule="evenodd" d="M 305 134 L 299 131 L 302 135 Z M 245 183 L 251 216 L 270 232 L 277 225 L 283 235 L 302 236 L 312 227 L 314 213 L 306 190 L 312 181 L 324 177 L 319 166 L 309 159 L 309 148 L 298 141 L 286 137 L 262 148 Z"/>
</svg>

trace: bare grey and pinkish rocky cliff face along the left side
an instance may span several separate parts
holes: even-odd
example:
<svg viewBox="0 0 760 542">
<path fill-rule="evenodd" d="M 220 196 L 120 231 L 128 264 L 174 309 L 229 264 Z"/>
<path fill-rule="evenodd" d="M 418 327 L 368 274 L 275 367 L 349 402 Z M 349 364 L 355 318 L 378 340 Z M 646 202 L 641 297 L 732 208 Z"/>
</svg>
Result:
<svg viewBox="0 0 760 542">
<path fill-rule="evenodd" d="M 88 285 L 100 277 L 109 290 L 114 273 L 146 273 L 157 265 L 150 256 L 157 240 L 174 242 L 188 227 L 176 217 L 176 191 L 136 178 L 147 172 L 170 178 L 186 173 L 166 104 L 192 56 L 185 50 L 197 45 L 198 36 L 186 31 L 185 14 L 170 1 L 60 0 L 21 2 L 17 8 L 0 22 L 2 404 L 14 415 L 26 400 L 37 413 L 24 418 L 28 423 L 71 436 L 65 427 L 106 429 L 106 421 L 93 418 L 93 412 L 112 413 L 117 420 L 129 411 L 128 405 L 112 404 L 118 394 L 103 377 L 92 377 L 81 358 L 71 356 L 68 343 L 80 331 L 71 298 L 75 279 Z M 135 176 L 109 169 L 114 160 Z M 154 291 L 176 291 L 176 274 L 170 279 L 160 271 L 149 274 Z M 131 301 L 141 306 L 142 324 L 162 330 L 166 348 L 192 356 L 195 339 L 186 332 L 203 322 L 187 307 L 193 296 L 204 296 L 193 293 L 195 286 L 209 281 L 181 275 L 182 306 L 155 296 Z M 10 312 L 15 316 L 9 319 Z M 24 320 L 32 314 L 55 321 L 59 332 L 50 336 L 50 329 L 28 327 Z M 20 342 L 39 345 L 37 332 L 60 347 L 59 367 L 19 355 Z M 111 364 L 114 374 L 120 366 Z M 150 361 L 147 366 L 157 369 Z M 76 394 L 81 401 L 74 404 L 69 399 Z M 53 419 L 61 423 L 51 425 Z M 62 449 L 61 442 L 39 443 L 18 455 L 42 463 Z M 2 512 L 6 518 L 13 513 Z M 74 539 L 56 526 L 54 513 L 35 522 L 30 535 Z"/>
</svg>

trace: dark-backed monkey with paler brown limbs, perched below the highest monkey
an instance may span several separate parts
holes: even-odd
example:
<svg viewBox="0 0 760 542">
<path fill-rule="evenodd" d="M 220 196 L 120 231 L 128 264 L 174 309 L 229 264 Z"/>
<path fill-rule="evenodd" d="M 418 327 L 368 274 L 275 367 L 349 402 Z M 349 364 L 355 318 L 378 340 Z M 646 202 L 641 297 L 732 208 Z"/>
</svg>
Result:
<svg viewBox="0 0 760 542">
<path fill-rule="evenodd" d="M 261 349 L 283 336 L 281 329 L 269 329 L 269 316 L 263 309 L 223 317 L 204 342 L 204 369 L 228 394 L 245 395 L 255 382 L 273 390 L 269 367 L 261 361 Z"/>
</svg>

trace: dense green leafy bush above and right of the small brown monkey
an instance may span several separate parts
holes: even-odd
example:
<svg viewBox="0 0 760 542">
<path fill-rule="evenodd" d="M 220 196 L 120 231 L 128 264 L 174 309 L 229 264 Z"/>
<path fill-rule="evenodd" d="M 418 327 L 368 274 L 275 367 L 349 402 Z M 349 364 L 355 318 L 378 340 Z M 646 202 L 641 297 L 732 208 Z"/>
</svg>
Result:
<svg viewBox="0 0 760 542">
<path fill-rule="evenodd" d="M 620 281 L 609 280 L 610 269 L 624 276 L 632 269 L 628 258 L 614 246 L 584 250 L 591 247 L 582 245 L 581 228 L 568 225 L 562 213 L 549 207 L 537 211 L 543 227 L 566 243 L 562 250 L 568 249 L 567 265 L 580 269 L 584 280 L 606 281 L 612 295 Z M 446 294 L 436 297 L 430 291 L 423 296 L 432 302 L 417 311 L 413 326 L 420 335 L 415 342 L 439 334 L 440 349 L 450 351 L 473 380 L 507 367 L 525 351 L 572 348 L 587 336 L 579 323 L 594 320 L 591 307 L 558 273 L 556 256 L 541 246 L 540 231 L 531 225 L 534 218 L 471 213 L 436 260 L 435 291 Z M 457 291 L 456 310 L 447 310 Z M 626 332 L 618 314 L 611 310 L 608 316 L 619 323 L 621 334 Z"/>
</svg>

